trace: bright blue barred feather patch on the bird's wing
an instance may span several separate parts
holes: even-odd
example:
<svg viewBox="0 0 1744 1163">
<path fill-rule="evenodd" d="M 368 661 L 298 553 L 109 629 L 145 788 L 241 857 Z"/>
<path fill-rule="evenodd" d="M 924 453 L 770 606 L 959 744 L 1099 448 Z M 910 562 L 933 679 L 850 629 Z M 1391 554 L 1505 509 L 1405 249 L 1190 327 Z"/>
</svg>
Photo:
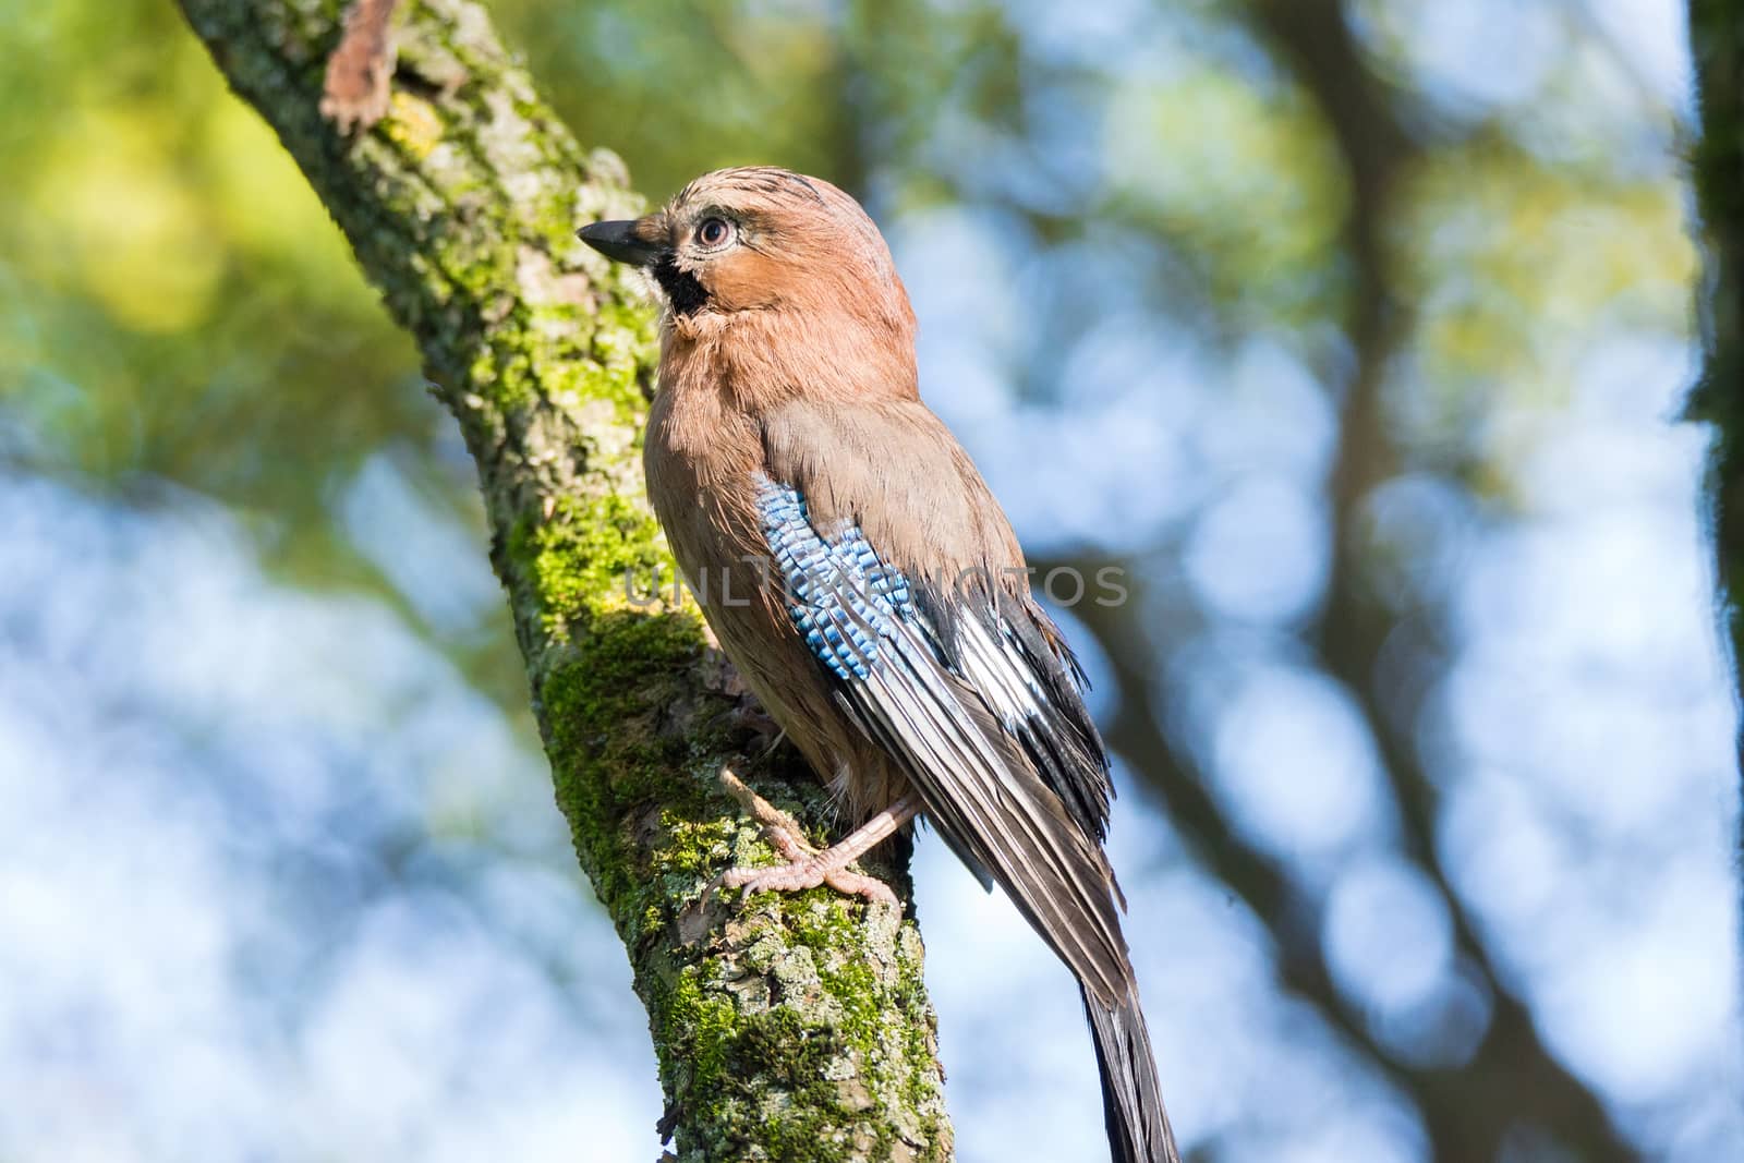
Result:
<svg viewBox="0 0 1744 1163">
<path fill-rule="evenodd" d="M 757 514 L 806 645 L 842 682 L 870 677 L 896 622 L 914 612 L 909 579 L 877 556 L 858 525 L 820 534 L 797 488 L 762 478 Z"/>
</svg>

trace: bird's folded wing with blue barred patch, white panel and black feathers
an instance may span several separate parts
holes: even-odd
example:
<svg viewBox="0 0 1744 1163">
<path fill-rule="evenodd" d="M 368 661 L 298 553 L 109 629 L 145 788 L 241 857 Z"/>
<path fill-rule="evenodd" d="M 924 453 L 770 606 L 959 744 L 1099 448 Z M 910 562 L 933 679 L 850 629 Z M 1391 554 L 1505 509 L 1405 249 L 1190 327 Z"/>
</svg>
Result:
<svg viewBox="0 0 1744 1163">
<path fill-rule="evenodd" d="M 910 577 L 860 523 L 814 523 L 800 490 L 769 476 L 757 481 L 757 513 L 788 617 L 839 706 L 1087 989 L 1123 997 L 1132 969 L 1100 847 L 1106 792 L 1095 792 L 1107 786 L 1106 760 L 1093 729 L 1087 738 L 1073 722 L 1081 703 L 1053 697 L 1052 626 L 998 586 Z"/>
</svg>

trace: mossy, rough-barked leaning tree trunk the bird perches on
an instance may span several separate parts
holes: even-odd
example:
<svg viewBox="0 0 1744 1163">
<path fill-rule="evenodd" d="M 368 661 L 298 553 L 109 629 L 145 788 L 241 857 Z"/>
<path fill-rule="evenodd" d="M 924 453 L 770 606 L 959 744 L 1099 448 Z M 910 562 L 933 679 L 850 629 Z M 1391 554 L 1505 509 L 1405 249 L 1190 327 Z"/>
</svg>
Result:
<svg viewBox="0 0 1744 1163">
<path fill-rule="evenodd" d="M 788 748 L 746 758 L 762 748 L 731 670 L 673 600 L 638 466 L 652 317 L 574 239 L 638 209 L 623 164 L 576 145 L 476 3 L 399 7 L 387 113 L 347 138 L 319 112 L 337 0 L 181 0 L 417 338 L 478 464 L 556 800 L 649 1011 L 661 1128 L 682 1161 L 949 1160 L 912 908 L 705 901 L 715 874 L 771 856 L 722 765 L 813 828 L 830 811 Z M 907 900 L 907 851 L 889 860 L 872 870 Z"/>
</svg>

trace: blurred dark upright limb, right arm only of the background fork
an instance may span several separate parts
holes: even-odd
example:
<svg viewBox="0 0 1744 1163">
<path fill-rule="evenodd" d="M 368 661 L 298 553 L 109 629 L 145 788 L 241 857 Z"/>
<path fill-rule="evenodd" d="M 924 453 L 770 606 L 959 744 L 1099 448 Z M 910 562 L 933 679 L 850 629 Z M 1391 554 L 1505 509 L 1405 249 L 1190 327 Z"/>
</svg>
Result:
<svg viewBox="0 0 1744 1163">
<path fill-rule="evenodd" d="M 1409 312 L 1393 291 L 1381 228 L 1392 214 L 1393 188 L 1416 145 L 1397 124 L 1393 101 L 1362 59 L 1345 19 L 1343 0 L 1257 0 L 1254 14 L 1296 77 L 1320 103 L 1352 180 L 1345 249 L 1353 286 L 1346 333 L 1355 370 L 1346 387 L 1338 455 L 1329 485 L 1332 575 L 1318 624 L 1318 654 L 1329 675 L 1355 697 L 1381 753 L 1404 823 L 1404 851 L 1441 889 L 1453 917 L 1456 949 L 1484 978 L 1495 1006 L 1472 1060 L 1458 1072 L 1413 1071 L 1411 1092 L 1423 1107 L 1439 1160 L 1493 1160 L 1509 1133 L 1533 1121 L 1573 1147 L 1582 1160 L 1627 1160 L 1598 1097 L 1538 1037 L 1531 1013 L 1509 990 L 1484 949 L 1477 926 L 1435 856 L 1437 795 L 1409 738 L 1413 715 L 1388 715 L 1376 673 L 1393 617 L 1371 598 L 1362 507 L 1371 492 L 1399 471 L 1386 427 L 1386 363 L 1409 328 Z"/>
</svg>

